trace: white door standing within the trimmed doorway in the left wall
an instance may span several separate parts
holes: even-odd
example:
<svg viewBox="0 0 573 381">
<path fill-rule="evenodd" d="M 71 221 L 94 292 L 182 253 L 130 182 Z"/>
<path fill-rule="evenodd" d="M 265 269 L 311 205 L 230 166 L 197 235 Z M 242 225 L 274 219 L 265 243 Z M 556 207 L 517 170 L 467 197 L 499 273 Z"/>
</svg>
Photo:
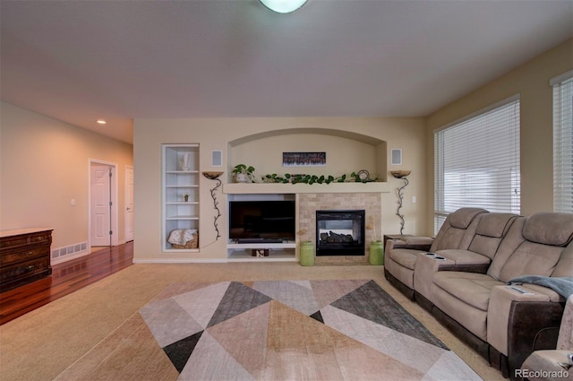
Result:
<svg viewBox="0 0 573 381">
<path fill-rule="evenodd" d="M 107 165 L 91 166 L 91 246 L 110 245 L 110 173 Z"/>
</svg>

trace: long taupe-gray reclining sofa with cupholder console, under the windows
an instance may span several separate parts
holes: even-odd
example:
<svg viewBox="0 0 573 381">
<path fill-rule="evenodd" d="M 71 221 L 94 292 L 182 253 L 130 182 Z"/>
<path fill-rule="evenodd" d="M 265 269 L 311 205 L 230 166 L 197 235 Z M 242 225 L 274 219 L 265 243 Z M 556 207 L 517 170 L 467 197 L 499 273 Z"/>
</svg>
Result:
<svg viewBox="0 0 573 381">
<path fill-rule="evenodd" d="M 556 284 L 573 277 L 572 238 L 573 214 L 523 217 L 462 208 L 435 239 L 387 241 L 384 273 L 514 378 L 533 351 L 555 348 L 568 296 Z M 420 250 L 424 239 L 427 249 Z"/>
</svg>

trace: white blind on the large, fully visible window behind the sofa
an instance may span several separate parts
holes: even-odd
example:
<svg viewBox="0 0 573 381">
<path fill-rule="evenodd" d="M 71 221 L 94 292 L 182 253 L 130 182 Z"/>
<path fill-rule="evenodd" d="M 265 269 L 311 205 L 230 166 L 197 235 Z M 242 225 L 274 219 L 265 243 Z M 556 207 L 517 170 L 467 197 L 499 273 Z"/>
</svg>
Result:
<svg viewBox="0 0 573 381">
<path fill-rule="evenodd" d="M 519 99 L 436 131 L 434 167 L 436 233 L 461 207 L 519 213 Z"/>
</svg>

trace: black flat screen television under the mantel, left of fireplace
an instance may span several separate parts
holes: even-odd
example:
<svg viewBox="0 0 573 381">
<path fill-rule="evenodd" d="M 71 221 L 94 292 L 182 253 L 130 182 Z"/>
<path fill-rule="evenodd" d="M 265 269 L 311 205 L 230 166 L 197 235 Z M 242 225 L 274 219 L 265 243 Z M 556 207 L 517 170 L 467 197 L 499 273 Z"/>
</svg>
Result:
<svg viewBox="0 0 573 381">
<path fill-rule="evenodd" d="M 239 243 L 295 240 L 295 201 L 230 201 L 229 238 Z"/>
</svg>

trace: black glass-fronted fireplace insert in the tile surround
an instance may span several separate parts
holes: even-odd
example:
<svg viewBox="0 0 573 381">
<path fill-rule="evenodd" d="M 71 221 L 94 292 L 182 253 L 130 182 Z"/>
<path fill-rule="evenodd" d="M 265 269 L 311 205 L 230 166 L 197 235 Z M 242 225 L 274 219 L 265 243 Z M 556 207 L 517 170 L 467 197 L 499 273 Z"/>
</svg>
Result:
<svg viewBox="0 0 573 381">
<path fill-rule="evenodd" d="M 316 211 L 316 255 L 364 255 L 364 211 Z"/>
</svg>

